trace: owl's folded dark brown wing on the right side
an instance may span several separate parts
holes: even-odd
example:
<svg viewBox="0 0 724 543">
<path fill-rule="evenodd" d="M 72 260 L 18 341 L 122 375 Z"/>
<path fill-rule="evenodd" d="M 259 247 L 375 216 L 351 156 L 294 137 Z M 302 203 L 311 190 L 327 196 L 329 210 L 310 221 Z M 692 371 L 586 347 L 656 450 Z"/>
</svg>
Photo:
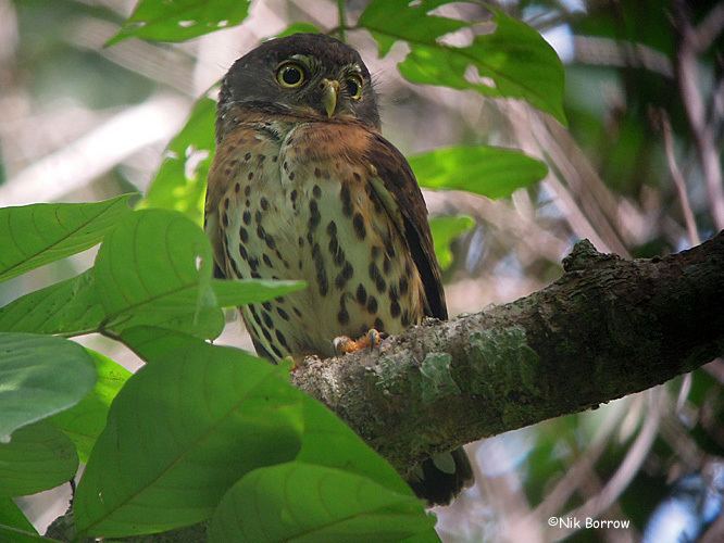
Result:
<svg viewBox="0 0 724 543">
<path fill-rule="evenodd" d="M 427 207 L 410 164 L 389 141 L 374 132 L 370 135 L 365 159 L 376 169 L 380 181 L 373 181 L 375 193 L 400 227 L 417 266 L 425 287 L 425 313 L 445 320 L 448 310 L 427 224 Z"/>
</svg>

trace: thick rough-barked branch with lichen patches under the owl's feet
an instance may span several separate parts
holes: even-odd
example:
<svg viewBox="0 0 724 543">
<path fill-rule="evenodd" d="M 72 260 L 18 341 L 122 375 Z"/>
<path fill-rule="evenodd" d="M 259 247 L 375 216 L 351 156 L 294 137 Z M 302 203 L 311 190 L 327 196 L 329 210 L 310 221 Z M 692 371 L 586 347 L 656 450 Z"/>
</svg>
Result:
<svg viewBox="0 0 724 543">
<path fill-rule="evenodd" d="M 516 302 L 429 319 L 295 383 L 400 471 L 438 451 L 660 384 L 724 352 L 724 231 L 624 261 L 577 243 L 565 274 Z"/>
</svg>

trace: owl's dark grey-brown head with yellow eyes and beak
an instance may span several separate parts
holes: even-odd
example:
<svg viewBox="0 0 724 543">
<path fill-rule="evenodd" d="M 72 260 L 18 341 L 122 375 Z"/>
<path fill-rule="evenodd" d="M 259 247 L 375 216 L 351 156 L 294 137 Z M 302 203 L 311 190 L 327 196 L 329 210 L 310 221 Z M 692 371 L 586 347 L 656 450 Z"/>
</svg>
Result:
<svg viewBox="0 0 724 543">
<path fill-rule="evenodd" d="M 321 34 L 272 39 L 237 60 L 222 80 L 220 113 L 232 104 L 379 128 L 377 99 L 360 54 Z"/>
</svg>

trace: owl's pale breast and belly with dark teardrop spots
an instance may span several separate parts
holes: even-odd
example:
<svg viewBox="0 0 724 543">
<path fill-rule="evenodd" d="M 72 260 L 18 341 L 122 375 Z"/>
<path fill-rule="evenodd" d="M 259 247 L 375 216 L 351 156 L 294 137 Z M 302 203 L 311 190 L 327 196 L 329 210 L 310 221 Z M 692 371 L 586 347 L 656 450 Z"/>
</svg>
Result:
<svg viewBox="0 0 724 543">
<path fill-rule="evenodd" d="M 424 288 L 400 224 L 375 192 L 366 130 L 249 125 L 229 137 L 234 151 L 212 176 L 226 180 L 216 210 L 226 275 L 309 283 L 242 308 L 257 344 L 275 359 L 330 356 L 338 336 L 399 333 L 421 320 Z"/>
</svg>

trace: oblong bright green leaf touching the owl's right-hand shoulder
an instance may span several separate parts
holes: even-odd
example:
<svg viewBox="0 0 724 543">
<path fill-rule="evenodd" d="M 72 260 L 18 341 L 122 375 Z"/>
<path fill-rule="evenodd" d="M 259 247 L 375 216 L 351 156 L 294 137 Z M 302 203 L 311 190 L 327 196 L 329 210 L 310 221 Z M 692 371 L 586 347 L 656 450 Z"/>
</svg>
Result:
<svg viewBox="0 0 724 543">
<path fill-rule="evenodd" d="M 539 181 L 546 165 L 520 151 L 485 146 L 436 149 L 410 157 L 421 187 L 466 190 L 484 197 L 505 198 Z"/>
</svg>

